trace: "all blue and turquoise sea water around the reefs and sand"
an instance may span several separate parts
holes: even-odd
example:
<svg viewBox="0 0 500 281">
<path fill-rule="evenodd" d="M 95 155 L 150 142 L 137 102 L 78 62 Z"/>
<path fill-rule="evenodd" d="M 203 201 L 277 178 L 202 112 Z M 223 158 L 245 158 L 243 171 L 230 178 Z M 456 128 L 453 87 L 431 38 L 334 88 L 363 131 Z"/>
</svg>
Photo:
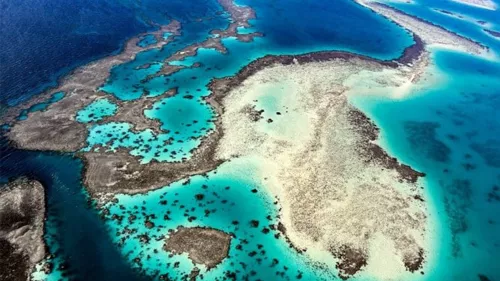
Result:
<svg viewBox="0 0 500 281">
<path fill-rule="evenodd" d="M 101 87 L 124 101 L 158 96 L 177 87 L 177 96 L 162 99 L 145 111 L 146 116 L 161 122 L 163 133 L 154 137 L 150 130 L 132 131 L 128 123 L 95 125 L 85 150 L 103 145 L 109 150 L 127 148 L 143 163 L 179 161 L 189 158 L 199 137 L 215 126 L 214 112 L 201 99 L 209 94 L 206 85 L 211 79 L 234 75 L 267 54 L 343 50 L 394 59 L 413 43 L 407 31 L 349 0 L 334 4 L 297 0 L 237 3 L 249 5 L 257 13 L 252 27 L 240 30 L 262 32 L 264 37 L 249 43 L 224 39 L 227 54 L 201 49 L 195 57 L 174 62 L 186 66 L 201 62 L 201 67 L 145 82 L 144 78 L 159 71 L 165 58 L 209 38 L 212 29 L 229 24 L 229 15 L 221 12 L 216 1 L 3 1 L 0 102 L 13 106 L 37 95 L 75 67 L 119 52 L 133 36 L 142 34 L 140 46 L 152 44 L 151 36 L 144 33 L 176 19 L 182 23 L 182 34 L 172 44 L 139 53 L 134 60 L 114 67 Z M 500 62 L 495 56 L 500 53 L 500 40 L 483 30 L 500 31 L 500 12 L 444 0 L 388 4 L 481 42 L 493 54 L 493 58 L 481 58 L 434 48 L 434 65 L 428 70 L 437 81 L 433 87 L 397 100 L 369 92 L 351 98 L 381 129 L 381 145 L 427 175 L 423 180 L 426 198 L 438 218 L 433 222 L 435 247 L 425 274 L 408 280 L 467 281 L 481 280 L 481 276 L 500 280 L 500 194 L 494 190 L 500 186 Z M 197 20 L 200 18 L 204 20 Z M 144 65 L 149 67 L 137 69 Z M 63 95 L 55 94 L 49 102 L 57 102 Z M 185 95 L 193 98 L 185 99 Z M 101 99 L 83 108 L 76 120 L 92 123 L 115 111 L 115 104 Z M 129 138 L 116 140 L 123 134 Z M 157 146 L 170 138 L 175 141 L 167 147 Z M 185 255 L 170 257 L 161 249 L 167 230 L 180 225 L 211 226 L 236 234 L 230 258 L 216 270 L 204 272 L 205 280 L 215 280 L 227 270 L 239 272 L 241 278 L 249 275 L 261 280 L 336 278 L 331 274 L 334 269 L 318 268 L 286 241 L 275 238 L 277 232 L 270 225 L 277 222 L 279 206 L 265 186 L 245 177 L 252 170 L 248 163 L 224 164 L 206 177 L 194 176 L 188 183 L 174 183 L 146 194 L 119 195 L 119 203 L 107 206 L 109 216 L 101 218 L 82 186 L 83 164 L 73 155 L 22 151 L 4 138 L 0 144 L 0 181 L 28 176 L 46 188 L 46 241 L 57 266 L 49 276 L 36 272 L 36 280 L 180 278 L 193 265 Z M 203 195 L 202 201 L 194 196 L 197 194 Z M 128 223 L 131 214 L 137 219 Z M 124 223 L 112 220 L 112 215 L 124 216 Z M 144 226 L 146 217 L 154 222 L 153 230 Z M 252 227 L 252 220 L 259 227 Z M 136 232 L 122 240 L 120 231 L 125 228 Z M 146 233 L 151 240 L 144 246 L 141 237 Z M 242 250 L 237 249 L 240 246 Z M 352 280 L 376 279 L 360 275 Z"/>
</svg>

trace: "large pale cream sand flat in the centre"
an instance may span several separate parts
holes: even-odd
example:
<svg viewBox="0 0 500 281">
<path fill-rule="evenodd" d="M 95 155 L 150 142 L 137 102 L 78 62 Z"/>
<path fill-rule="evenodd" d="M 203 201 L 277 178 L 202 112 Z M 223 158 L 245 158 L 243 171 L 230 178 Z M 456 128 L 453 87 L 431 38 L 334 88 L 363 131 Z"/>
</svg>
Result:
<svg viewBox="0 0 500 281">
<path fill-rule="evenodd" d="M 279 199 L 291 242 L 339 258 L 343 278 L 373 255 L 413 272 L 428 250 L 421 174 L 388 164 L 392 158 L 372 143 L 377 129 L 345 95 L 351 75 L 363 70 L 376 79 L 386 68 L 359 58 L 275 65 L 222 99 L 217 156 L 257 163 L 255 176 Z M 394 83 L 407 75 L 391 71 Z M 373 247 L 375 238 L 390 247 Z"/>
</svg>

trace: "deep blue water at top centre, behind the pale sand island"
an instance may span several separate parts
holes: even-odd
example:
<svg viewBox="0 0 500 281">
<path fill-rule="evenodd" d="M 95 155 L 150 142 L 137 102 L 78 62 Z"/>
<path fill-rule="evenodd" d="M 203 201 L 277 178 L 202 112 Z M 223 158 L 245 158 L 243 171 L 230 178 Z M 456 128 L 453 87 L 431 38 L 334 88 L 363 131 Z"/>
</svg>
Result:
<svg viewBox="0 0 500 281">
<path fill-rule="evenodd" d="M 257 13 L 253 27 L 281 53 L 345 50 L 394 59 L 412 44 L 405 30 L 354 1 L 239 0 Z"/>
</svg>

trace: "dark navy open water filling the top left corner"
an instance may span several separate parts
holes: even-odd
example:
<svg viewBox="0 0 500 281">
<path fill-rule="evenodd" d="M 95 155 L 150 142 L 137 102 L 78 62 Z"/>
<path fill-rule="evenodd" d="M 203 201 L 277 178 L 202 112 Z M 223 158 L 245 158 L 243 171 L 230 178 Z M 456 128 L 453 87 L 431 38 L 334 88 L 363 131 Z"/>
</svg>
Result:
<svg viewBox="0 0 500 281">
<path fill-rule="evenodd" d="M 10 105 L 150 28 L 119 1 L 6 0 L 0 14 L 0 103 Z"/>
</svg>

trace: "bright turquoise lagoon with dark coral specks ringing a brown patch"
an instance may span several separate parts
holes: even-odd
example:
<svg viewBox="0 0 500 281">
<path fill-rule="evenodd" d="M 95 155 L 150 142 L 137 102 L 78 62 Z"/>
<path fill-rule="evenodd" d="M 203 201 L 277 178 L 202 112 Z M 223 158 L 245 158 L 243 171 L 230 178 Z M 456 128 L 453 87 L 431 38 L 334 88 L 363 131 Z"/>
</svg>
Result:
<svg viewBox="0 0 500 281">
<path fill-rule="evenodd" d="M 167 275 L 180 280 L 194 265 L 186 255 L 169 257 L 162 249 L 165 237 L 179 226 L 209 226 L 231 233 L 233 238 L 229 259 L 208 272 L 200 268 L 206 280 L 216 280 L 227 272 L 234 272 L 236 280 L 328 276 L 313 270 L 305 259 L 296 258 L 295 250 L 276 230 L 278 213 L 272 198 L 258 184 L 234 176 L 232 169 L 222 167 L 217 173 L 190 178 L 189 184 L 177 182 L 144 195 L 118 195 L 117 203 L 107 205 L 107 224 L 118 233 L 115 242 L 134 261 L 132 265 L 155 279 Z M 153 226 L 146 227 L 146 221 Z"/>
</svg>

